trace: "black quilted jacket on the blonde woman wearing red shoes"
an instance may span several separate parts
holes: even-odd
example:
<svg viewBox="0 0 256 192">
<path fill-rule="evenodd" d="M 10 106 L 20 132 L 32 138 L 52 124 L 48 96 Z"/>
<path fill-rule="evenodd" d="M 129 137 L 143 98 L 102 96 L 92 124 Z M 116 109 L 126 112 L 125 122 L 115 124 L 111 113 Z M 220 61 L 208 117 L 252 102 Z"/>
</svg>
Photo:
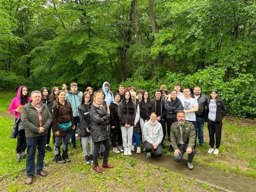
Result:
<svg viewBox="0 0 256 192">
<path fill-rule="evenodd" d="M 107 125 L 110 122 L 110 114 L 106 109 L 98 108 L 91 104 L 90 108 L 91 117 L 91 139 L 94 143 L 109 139 L 109 133 L 107 131 Z"/>
</svg>

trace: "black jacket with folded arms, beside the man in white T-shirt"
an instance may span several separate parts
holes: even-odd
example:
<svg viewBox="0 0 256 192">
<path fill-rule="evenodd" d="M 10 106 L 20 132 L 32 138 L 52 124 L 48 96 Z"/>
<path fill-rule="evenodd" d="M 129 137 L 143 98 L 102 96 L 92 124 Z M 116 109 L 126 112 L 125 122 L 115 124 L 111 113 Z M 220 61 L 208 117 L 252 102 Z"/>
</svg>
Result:
<svg viewBox="0 0 256 192">
<path fill-rule="evenodd" d="M 175 100 L 171 99 L 171 102 L 165 100 L 165 114 L 167 120 L 177 120 L 177 111 L 183 110 L 182 102 L 176 97 Z"/>
</svg>

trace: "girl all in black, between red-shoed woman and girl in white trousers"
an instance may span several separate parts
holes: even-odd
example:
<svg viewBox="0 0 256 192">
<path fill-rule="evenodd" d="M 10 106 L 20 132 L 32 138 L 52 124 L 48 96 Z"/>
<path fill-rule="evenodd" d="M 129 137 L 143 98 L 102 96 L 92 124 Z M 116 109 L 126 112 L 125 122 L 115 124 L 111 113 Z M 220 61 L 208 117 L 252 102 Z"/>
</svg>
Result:
<svg viewBox="0 0 256 192">
<path fill-rule="evenodd" d="M 121 95 L 116 93 L 114 95 L 114 101 L 110 103 L 110 127 L 111 127 L 111 145 L 113 147 L 114 153 L 120 153 L 123 151 L 123 141 L 122 141 L 122 132 L 120 128 L 120 122 L 118 118 L 118 105 L 121 100 Z M 118 138 L 118 139 L 117 139 Z M 118 141 L 119 148 L 116 147 L 116 141 Z"/>
</svg>

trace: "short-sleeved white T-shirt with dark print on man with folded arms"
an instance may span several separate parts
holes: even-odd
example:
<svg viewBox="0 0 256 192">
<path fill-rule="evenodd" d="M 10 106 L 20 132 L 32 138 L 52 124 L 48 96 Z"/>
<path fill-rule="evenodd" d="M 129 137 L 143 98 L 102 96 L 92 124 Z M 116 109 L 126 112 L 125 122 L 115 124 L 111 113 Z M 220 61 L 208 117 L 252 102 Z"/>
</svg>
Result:
<svg viewBox="0 0 256 192">
<path fill-rule="evenodd" d="M 180 99 L 180 101 L 182 102 L 183 108 L 184 110 L 191 110 L 192 108 L 198 106 L 198 100 L 196 100 L 195 98 L 185 98 L 182 97 Z M 195 112 L 187 112 L 185 114 L 185 120 L 187 121 L 196 121 L 196 114 Z"/>
</svg>

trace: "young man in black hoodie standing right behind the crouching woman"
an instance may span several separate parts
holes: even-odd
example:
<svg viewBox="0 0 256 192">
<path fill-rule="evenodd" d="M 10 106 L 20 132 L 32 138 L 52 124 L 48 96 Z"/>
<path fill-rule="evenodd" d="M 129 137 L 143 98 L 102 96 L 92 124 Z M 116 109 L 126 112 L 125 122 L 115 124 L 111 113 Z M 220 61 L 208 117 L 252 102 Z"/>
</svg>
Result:
<svg viewBox="0 0 256 192">
<path fill-rule="evenodd" d="M 163 129 L 163 139 L 161 144 L 163 148 L 166 148 L 163 144 L 166 135 L 165 98 L 162 98 L 161 92 L 161 90 L 156 90 L 154 98 L 151 100 L 151 102 L 153 104 L 153 112 L 155 112 L 157 115 L 156 120 L 162 125 Z"/>
</svg>

